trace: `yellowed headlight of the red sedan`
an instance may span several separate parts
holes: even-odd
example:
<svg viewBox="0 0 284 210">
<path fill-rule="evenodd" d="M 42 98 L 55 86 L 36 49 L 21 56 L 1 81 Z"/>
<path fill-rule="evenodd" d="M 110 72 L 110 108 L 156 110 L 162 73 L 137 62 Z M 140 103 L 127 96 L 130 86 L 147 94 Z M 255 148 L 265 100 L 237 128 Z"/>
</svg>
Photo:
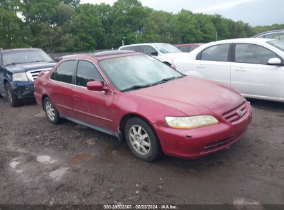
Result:
<svg viewBox="0 0 284 210">
<path fill-rule="evenodd" d="M 193 117 L 165 117 L 167 124 L 172 128 L 192 129 L 218 124 L 219 121 L 211 115 Z"/>
</svg>

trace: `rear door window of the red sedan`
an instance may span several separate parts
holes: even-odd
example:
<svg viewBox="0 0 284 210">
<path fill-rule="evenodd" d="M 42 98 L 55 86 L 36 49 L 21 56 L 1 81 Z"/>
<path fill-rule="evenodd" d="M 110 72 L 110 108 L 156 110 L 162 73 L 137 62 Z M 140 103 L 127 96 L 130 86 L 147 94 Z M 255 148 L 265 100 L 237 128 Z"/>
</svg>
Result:
<svg viewBox="0 0 284 210">
<path fill-rule="evenodd" d="M 53 72 L 50 79 L 55 81 L 72 84 L 72 77 L 75 70 L 76 61 L 64 61 Z"/>
</svg>

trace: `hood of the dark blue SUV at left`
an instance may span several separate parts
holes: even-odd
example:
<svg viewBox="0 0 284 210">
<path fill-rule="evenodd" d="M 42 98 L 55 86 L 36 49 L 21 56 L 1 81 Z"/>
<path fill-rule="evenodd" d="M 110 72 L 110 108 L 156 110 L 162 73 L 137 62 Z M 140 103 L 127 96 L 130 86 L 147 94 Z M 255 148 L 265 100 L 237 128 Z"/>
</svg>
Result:
<svg viewBox="0 0 284 210">
<path fill-rule="evenodd" d="M 53 68 L 56 63 L 54 62 L 37 62 L 37 63 L 28 63 L 28 64 L 16 64 L 6 66 L 6 69 L 9 70 L 11 73 L 24 73 L 29 70 L 37 70 L 37 69 L 44 69 L 44 68 Z"/>
</svg>

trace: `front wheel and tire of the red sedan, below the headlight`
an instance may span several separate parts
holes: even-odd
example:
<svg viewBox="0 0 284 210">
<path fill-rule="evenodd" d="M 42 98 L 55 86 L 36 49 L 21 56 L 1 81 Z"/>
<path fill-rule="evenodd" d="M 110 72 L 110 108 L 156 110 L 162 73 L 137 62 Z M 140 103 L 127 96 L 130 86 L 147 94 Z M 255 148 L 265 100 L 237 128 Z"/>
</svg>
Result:
<svg viewBox="0 0 284 210">
<path fill-rule="evenodd" d="M 128 120 L 124 134 L 127 146 L 135 157 L 152 162 L 161 155 L 160 141 L 153 128 L 144 120 L 138 117 Z"/>
</svg>

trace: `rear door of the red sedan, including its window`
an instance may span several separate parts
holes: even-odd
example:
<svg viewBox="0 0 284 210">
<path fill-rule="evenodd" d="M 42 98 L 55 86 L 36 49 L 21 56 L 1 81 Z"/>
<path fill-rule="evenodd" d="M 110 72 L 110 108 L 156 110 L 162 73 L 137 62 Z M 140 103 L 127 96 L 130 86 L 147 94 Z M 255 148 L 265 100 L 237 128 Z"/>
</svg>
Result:
<svg viewBox="0 0 284 210">
<path fill-rule="evenodd" d="M 48 93 L 60 115 L 74 117 L 73 112 L 73 75 L 76 60 L 63 61 L 50 76 Z"/>
</svg>

